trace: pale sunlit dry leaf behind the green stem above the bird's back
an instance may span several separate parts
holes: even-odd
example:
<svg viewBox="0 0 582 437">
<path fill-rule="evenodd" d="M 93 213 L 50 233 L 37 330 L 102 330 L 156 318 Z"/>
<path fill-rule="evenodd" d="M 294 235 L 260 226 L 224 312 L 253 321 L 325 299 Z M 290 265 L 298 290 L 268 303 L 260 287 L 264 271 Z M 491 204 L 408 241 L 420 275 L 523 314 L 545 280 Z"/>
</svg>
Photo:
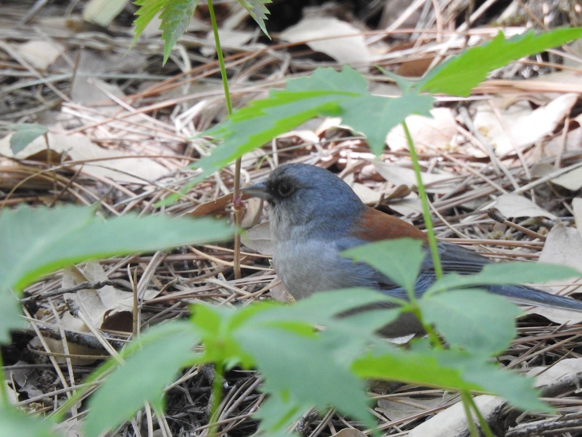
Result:
<svg viewBox="0 0 582 437">
<path fill-rule="evenodd" d="M 406 125 L 418 149 L 448 150 L 457 133 L 457 122 L 449 108 L 434 108 L 432 117 L 410 115 Z M 408 142 L 402 125 L 393 128 L 386 135 L 386 143 L 392 150 L 408 150 Z"/>
</svg>

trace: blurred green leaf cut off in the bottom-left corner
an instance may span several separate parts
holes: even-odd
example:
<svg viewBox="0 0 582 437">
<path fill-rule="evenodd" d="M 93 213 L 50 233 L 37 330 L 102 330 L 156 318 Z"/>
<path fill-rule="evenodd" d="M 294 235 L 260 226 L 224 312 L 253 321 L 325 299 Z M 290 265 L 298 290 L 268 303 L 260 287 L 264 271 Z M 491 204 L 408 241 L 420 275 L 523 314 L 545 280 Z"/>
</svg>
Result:
<svg viewBox="0 0 582 437">
<path fill-rule="evenodd" d="M 3 383 L 3 382 L 2 382 Z M 27 414 L 13 406 L 0 404 L 0 436 L 57 437 L 51 431 L 52 422 L 36 414 Z"/>
</svg>

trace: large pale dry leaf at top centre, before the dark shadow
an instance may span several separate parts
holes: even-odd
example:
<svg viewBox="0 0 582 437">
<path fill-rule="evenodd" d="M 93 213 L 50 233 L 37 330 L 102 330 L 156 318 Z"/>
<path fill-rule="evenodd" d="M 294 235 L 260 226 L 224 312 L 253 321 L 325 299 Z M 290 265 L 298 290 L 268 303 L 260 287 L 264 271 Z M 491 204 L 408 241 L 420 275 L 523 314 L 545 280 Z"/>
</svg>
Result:
<svg viewBox="0 0 582 437">
<path fill-rule="evenodd" d="M 313 41 L 342 35 L 346 37 Z M 361 31 L 334 17 L 305 17 L 283 30 L 280 37 L 290 43 L 306 41 L 312 50 L 325 53 L 339 64 L 370 64 L 373 59 Z"/>
</svg>

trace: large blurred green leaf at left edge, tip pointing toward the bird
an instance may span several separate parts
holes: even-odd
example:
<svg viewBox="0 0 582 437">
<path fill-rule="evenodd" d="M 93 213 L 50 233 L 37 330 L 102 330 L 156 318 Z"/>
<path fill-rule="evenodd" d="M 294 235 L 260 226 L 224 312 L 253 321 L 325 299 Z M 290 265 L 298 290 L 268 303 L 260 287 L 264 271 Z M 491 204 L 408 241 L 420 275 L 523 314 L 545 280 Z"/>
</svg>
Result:
<svg viewBox="0 0 582 437">
<path fill-rule="evenodd" d="M 43 274 L 91 258 L 222 241 L 233 231 L 210 218 L 126 214 L 106 221 L 93 207 L 5 208 L 0 214 L 0 301 L 5 304 L 0 340 L 20 325 L 11 289 L 20 291 Z"/>
</svg>

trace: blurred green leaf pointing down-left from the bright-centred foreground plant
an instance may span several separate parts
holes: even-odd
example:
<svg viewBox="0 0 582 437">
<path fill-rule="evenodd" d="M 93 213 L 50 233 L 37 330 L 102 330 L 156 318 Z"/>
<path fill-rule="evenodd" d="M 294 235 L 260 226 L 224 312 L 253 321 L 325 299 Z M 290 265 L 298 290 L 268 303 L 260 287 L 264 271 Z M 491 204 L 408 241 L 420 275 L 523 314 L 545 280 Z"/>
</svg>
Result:
<svg viewBox="0 0 582 437">
<path fill-rule="evenodd" d="M 109 375 L 89 400 L 83 429 L 97 437 L 122 424 L 149 402 L 162 411 L 164 388 L 193 360 L 200 338 L 188 322 L 162 323 L 143 334 L 141 348 Z"/>
</svg>

